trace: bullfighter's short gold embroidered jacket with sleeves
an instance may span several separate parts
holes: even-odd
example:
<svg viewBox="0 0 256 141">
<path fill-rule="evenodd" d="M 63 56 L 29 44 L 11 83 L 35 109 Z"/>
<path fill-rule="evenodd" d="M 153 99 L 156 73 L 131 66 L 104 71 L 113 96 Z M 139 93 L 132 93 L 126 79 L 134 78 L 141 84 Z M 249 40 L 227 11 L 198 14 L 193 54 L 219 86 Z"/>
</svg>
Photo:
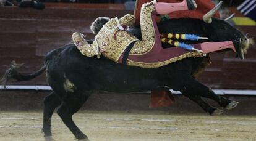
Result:
<svg viewBox="0 0 256 141">
<path fill-rule="evenodd" d="M 103 25 L 103 28 L 95 36 L 95 41 L 88 44 L 81 33 L 73 33 L 74 44 L 83 55 L 92 57 L 94 55 L 104 55 L 105 57 L 117 62 L 124 50 L 131 42 L 138 39 L 124 30 L 123 27 L 131 26 L 135 22 L 134 15 L 126 14 L 118 19 L 111 18 Z"/>
</svg>

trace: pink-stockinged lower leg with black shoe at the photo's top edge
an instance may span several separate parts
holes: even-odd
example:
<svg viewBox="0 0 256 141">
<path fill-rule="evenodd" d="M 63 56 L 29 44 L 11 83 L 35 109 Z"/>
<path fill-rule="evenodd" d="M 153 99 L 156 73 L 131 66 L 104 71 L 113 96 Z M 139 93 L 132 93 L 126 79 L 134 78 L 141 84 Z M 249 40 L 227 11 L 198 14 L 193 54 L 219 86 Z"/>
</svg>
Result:
<svg viewBox="0 0 256 141">
<path fill-rule="evenodd" d="M 179 10 L 193 10 L 197 8 L 197 4 L 194 0 L 183 0 L 179 3 L 165 3 L 165 2 L 156 2 L 155 9 L 157 14 L 169 14 L 174 11 Z"/>
</svg>

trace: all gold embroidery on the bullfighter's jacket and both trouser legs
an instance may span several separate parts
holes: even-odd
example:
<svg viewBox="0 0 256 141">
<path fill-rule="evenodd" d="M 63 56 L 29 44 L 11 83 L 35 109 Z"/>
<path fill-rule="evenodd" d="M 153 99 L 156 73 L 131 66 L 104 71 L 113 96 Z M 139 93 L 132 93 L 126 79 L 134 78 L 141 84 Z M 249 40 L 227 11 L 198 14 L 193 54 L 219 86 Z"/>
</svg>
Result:
<svg viewBox="0 0 256 141">
<path fill-rule="evenodd" d="M 151 12 L 155 10 L 153 5 L 143 4 L 142 12 L 140 17 L 141 31 L 142 31 L 142 41 L 137 41 L 135 36 L 127 33 L 127 31 L 119 30 L 120 25 L 128 25 L 132 20 L 129 18 L 122 17 L 120 20 L 118 18 L 112 18 L 108 23 L 103 25 L 103 28 L 95 36 L 95 41 L 93 44 L 88 44 L 88 42 L 83 39 L 82 34 L 74 33 L 72 39 L 75 45 L 82 52 L 83 55 L 88 57 L 102 54 L 105 57 L 117 62 L 119 57 L 124 52 L 127 46 L 131 42 L 137 41 L 134 44 L 132 50 L 130 50 L 130 55 L 143 55 L 147 54 L 155 44 L 155 28 L 153 26 L 152 14 Z M 130 18 L 132 19 L 132 18 Z M 99 49 L 97 51 L 97 49 Z M 158 68 L 160 66 L 168 65 L 169 63 L 176 62 L 187 57 L 202 57 L 203 54 L 200 52 L 188 52 L 186 54 L 180 55 L 175 58 L 163 62 L 156 63 L 145 63 L 145 62 L 134 62 L 132 60 L 127 60 L 127 65 L 139 66 L 142 68 Z"/>
</svg>

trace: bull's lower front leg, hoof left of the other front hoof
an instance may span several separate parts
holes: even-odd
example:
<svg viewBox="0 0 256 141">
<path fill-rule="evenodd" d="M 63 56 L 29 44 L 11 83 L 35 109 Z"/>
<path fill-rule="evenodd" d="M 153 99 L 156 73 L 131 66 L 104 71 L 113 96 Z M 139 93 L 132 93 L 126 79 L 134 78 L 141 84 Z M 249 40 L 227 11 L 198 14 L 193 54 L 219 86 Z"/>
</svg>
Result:
<svg viewBox="0 0 256 141">
<path fill-rule="evenodd" d="M 200 95 L 194 92 L 190 92 L 184 88 L 181 90 L 181 93 L 188 97 L 190 100 L 197 103 L 200 107 L 203 108 L 203 110 L 207 113 L 209 113 L 212 116 L 221 115 L 223 113 L 223 110 L 220 110 L 218 108 L 212 107 L 210 104 L 206 103 Z"/>
</svg>

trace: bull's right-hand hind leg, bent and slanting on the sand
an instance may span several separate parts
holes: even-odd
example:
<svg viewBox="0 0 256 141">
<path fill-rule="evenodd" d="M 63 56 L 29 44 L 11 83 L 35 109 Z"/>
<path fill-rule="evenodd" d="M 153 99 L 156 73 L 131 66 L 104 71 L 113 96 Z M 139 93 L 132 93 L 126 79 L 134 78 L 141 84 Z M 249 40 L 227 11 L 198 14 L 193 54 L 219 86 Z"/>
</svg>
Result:
<svg viewBox="0 0 256 141">
<path fill-rule="evenodd" d="M 88 99 L 88 97 L 83 97 L 82 95 L 77 96 L 75 94 L 69 95 L 67 99 L 61 104 L 57 113 L 61 117 L 62 121 L 70 129 L 70 131 L 75 135 L 76 139 L 88 140 L 88 137 L 83 134 L 82 131 L 75 125 L 72 115 L 76 113 L 83 103 Z"/>
</svg>

